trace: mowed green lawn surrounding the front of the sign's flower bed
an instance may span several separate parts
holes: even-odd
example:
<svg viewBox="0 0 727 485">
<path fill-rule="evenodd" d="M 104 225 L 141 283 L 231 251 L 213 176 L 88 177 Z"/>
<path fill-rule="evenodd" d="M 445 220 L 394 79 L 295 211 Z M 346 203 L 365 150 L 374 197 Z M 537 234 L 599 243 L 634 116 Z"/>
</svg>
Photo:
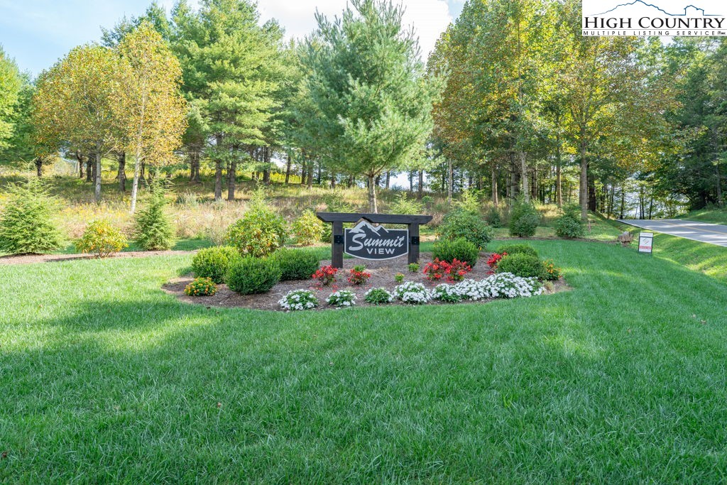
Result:
<svg viewBox="0 0 727 485">
<path fill-rule="evenodd" d="M 572 291 L 284 314 L 161 292 L 189 257 L 0 266 L 0 481 L 726 481 L 723 281 L 532 244 Z"/>
</svg>

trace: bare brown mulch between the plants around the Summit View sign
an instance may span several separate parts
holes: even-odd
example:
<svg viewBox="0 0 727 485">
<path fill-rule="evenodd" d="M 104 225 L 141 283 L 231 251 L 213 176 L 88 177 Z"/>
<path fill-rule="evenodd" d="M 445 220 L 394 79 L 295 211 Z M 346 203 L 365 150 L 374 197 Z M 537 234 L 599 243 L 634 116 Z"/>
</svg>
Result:
<svg viewBox="0 0 727 485">
<path fill-rule="evenodd" d="M 489 254 L 481 253 L 477 265 L 473 268 L 471 273 L 467 274 L 467 279 L 481 280 L 487 278 L 490 275 L 490 268 L 487 265 L 487 259 Z M 311 289 L 318 296 L 318 308 L 316 310 L 335 310 L 336 308 L 329 306 L 326 303 L 326 298 L 332 292 L 342 289 L 348 289 L 356 293 L 356 306 L 357 307 L 368 307 L 374 306 L 369 305 L 364 301 L 364 294 L 371 288 L 385 288 L 389 291 L 393 291 L 397 283 L 394 281 L 394 275 L 396 273 L 404 274 L 404 281 L 415 281 L 423 283 L 427 288 L 433 288 L 436 284 L 432 284 L 427 281 L 422 271 L 424 270 L 427 262 L 432 260 L 430 253 L 422 253 L 419 269 L 419 273 L 409 273 L 408 264 L 406 257 L 399 257 L 395 260 L 386 261 L 366 261 L 366 260 L 343 260 L 344 268 L 338 270 L 337 286 L 327 286 L 324 289 L 318 291 L 313 286 L 313 280 L 302 280 L 302 281 L 281 281 L 280 283 L 273 286 L 273 289 L 268 293 L 264 294 L 251 294 L 241 295 L 228 289 L 224 284 L 217 285 L 217 293 L 211 297 L 190 297 L 185 294 L 184 289 L 190 281 L 194 278 L 192 275 L 185 276 L 183 278 L 174 278 L 169 283 L 162 286 L 165 292 L 173 294 L 183 302 L 196 303 L 198 305 L 206 305 L 207 307 L 223 307 L 223 308 L 253 308 L 256 310 L 276 310 L 285 311 L 280 308 L 278 300 L 284 297 L 288 292 L 296 289 Z M 331 264 L 330 261 L 321 261 L 321 266 Z M 371 273 L 371 278 L 365 285 L 354 286 L 348 283 L 349 270 L 355 265 L 366 265 L 366 270 Z M 553 288 L 548 289 L 547 293 L 555 293 L 566 291 L 569 289 L 568 285 L 561 279 L 561 281 L 554 281 Z M 489 302 L 491 300 L 483 300 L 482 302 Z M 473 302 L 468 302 L 473 303 Z M 402 302 L 394 300 L 390 305 L 403 305 Z M 441 303 L 438 301 L 430 302 L 430 305 L 451 305 L 451 303 Z M 309 310 L 313 311 L 313 310 Z"/>
</svg>

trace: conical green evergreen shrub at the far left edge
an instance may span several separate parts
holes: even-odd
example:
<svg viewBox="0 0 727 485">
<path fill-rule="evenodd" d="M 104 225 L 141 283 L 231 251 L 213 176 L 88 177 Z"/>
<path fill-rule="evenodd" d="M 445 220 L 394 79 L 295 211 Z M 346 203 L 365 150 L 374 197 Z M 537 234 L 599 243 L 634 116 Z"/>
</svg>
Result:
<svg viewBox="0 0 727 485">
<path fill-rule="evenodd" d="M 0 216 L 0 252 L 9 254 L 46 253 L 61 244 L 60 232 L 52 222 L 55 200 L 41 180 L 28 177 L 9 185 L 9 199 Z"/>
</svg>

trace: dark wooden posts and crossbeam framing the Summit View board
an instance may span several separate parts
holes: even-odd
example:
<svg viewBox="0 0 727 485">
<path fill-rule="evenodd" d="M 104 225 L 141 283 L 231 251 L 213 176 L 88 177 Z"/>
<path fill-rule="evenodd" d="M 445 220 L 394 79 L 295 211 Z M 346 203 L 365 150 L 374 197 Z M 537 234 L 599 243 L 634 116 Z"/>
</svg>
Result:
<svg viewBox="0 0 727 485">
<path fill-rule="evenodd" d="M 419 262 L 419 225 L 432 220 L 430 215 L 361 214 L 350 212 L 318 212 L 318 219 L 333 225 L 332 265 L 343 268 L 343 223 L 358 223 L 364 219 L 374 224 L 404 224 L 409 228 L 409 262 Z"/>
</svg>

